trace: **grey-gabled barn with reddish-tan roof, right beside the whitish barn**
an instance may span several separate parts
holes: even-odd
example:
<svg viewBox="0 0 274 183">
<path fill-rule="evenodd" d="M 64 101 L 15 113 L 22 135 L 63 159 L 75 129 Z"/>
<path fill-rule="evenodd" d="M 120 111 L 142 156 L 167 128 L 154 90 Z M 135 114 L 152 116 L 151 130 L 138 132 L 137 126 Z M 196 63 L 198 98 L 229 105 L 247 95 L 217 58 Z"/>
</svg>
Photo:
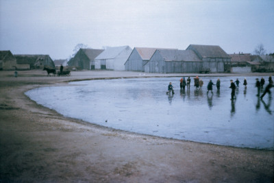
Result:
<svg viewBox="0 0 274 183">
<path fill-rule="evenodd" d="M 125 62 L 125 70 L 144 72 L 145 64 L 149 62 L 156 49 L 157 48 L 134 47 L 132 53 L 130 53 L 129 58 L 127 58 L 127 61 Z"/>
</svg>

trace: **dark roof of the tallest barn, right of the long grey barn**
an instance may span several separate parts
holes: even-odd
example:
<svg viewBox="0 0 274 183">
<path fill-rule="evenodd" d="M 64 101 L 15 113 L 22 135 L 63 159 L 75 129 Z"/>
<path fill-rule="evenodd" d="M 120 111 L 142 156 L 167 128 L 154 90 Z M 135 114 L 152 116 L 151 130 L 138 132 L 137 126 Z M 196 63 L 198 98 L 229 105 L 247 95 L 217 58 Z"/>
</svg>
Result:
<svg viewBox="0 0 274 183">
<path fill-rule="evenodd" d="M 230 58 L 221 47 L 216 45 L 189 45 L 188 49 L 192 49 L 199 54 L 201 58 Z"/>
</svg>

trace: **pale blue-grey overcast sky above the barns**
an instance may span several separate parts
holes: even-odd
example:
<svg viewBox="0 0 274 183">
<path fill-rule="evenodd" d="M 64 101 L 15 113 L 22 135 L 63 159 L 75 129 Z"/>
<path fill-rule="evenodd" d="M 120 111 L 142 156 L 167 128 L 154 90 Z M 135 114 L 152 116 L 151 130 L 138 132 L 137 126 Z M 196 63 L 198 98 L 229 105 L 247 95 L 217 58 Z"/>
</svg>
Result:
<svg viewBox="0 0 274 183">
<path fill-rule="evenodd" d="M 274 52 L 274 0 L 0 0 L 0 50 L 69 58 L 78 43 Z"/>
</svg>

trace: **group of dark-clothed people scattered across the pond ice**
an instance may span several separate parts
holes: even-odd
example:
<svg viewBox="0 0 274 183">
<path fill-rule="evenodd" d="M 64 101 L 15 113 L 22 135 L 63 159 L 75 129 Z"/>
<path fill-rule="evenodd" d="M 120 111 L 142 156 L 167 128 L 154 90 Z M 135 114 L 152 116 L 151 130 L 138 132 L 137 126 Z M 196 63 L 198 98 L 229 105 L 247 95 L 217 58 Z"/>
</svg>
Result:
<svg viewBox="0 0 274 183">
<path fill-rule="evenodd" d="M 188 89 L 190 89 L 190 77 L 188 77 L 188 79 L 186 80 L 185 77 L 182 77 L 182 79 L 180 80 L 180 88 L 181 90 L 185 90 L 185 87 L 187 86 Z M 230 87 L 232 89 L 232 93 L 231 93 L 231 100 L 233 101 L 234 99 L 236 99 L 235 97 L 235 90 L 236 90 L 236 87 L 239 87 L 239 84 L 240 84 L 240 81 L 238 80 L 238 78 L 236 79 L 235 82 L 233 82 L 233 80 L 230 80 Z M 265 81 L 264 81 L 264 78 L 262 77 L 261 80 L 259 81 L 258 78 L 256 78 L 256 87 L 258 88 L 258 94 L 257 96 L 260 97 L 262 99 L 262 97 L 264 97 L 264 95 L 266 95 L 266 93 L 269 93 L 269 95 L 271 95 L 271 90 L 270 88 L 273 86 L 273 80 L 272 80 L 272 77 L 270 76 L 269 77 L 269 84 L 266 86 L 265 90 L 264 90 L 264 93 L 260 96 L 260 90 L 262 88 L 264 88 L 264 84 L 265 84 Z M 221 86 L 221 81 L 220 79 L 218 78 L 218 80 L 216 81 L 216 84 L 214 84 L 212 82 L 212 80 L 210 80 L 210 82 L 208 82 L 208 92 L 207 92 L 207 95 L 209 93 L 209 91 L 212 92 L 212 89 L 213 89 L 213 85 L 216 85 L 217 87 L 217 90 L 220 90 L 220 86 Z M 243 81 L 243 85 L 245 86 L 245 88 L 247 88 L 247 79 L 245 78 L 245 80 Z M 199 79 L 198 76 L 196 76 L 194 78 L 194 86 L 195 88 L 203 88 L 203 80 Z M 169 83 L 169 86 L 168 86 L 168 92 L 166 92 L 166 94 L 168 93 L 172 93 L 174 95 L 174 90 L 173 90 L 173 85 L 172 83 L 170 82 Z"/>
</svg>

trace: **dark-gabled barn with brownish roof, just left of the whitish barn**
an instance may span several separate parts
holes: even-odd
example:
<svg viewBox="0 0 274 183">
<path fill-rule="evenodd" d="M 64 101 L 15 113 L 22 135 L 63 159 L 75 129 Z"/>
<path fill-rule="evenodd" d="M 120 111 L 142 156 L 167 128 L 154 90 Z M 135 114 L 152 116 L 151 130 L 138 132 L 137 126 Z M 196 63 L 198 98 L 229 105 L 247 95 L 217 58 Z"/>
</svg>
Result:
<svg viewBox="0 0 274 183">
<path fill-rule="evenodd" d="M 76 55 L 68 62 L 68 66 L 75 66 L 77 69 L 94 69 L 90 68 L 90 62 L 103 52 L 103 49 L 79 49 Z"/>
</svg>

